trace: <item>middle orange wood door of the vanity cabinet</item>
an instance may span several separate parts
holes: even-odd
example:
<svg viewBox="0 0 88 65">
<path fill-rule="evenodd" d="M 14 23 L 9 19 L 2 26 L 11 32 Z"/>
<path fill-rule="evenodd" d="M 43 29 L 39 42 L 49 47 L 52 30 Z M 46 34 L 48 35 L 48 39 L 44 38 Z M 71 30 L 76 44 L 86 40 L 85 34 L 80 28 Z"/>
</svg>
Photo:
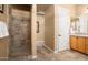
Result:
<svg viewBox="0 0 88 65">
<path fill-rule="evenodd" d="M 85 53 L 85 37 L 78 37 L 78 50 L 81 53 Z"/>
</svg>

